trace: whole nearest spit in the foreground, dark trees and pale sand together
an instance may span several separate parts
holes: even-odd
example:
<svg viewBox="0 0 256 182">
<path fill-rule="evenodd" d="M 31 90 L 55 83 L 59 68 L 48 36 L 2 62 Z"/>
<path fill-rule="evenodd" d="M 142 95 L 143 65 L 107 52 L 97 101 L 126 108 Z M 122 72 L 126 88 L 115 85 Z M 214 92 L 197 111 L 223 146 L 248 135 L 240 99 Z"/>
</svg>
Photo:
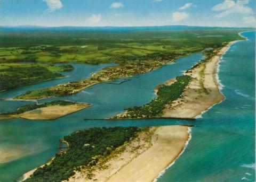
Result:
<svg viewBox="0 0 256 182">
<path fill-rule="evenodd" d="M 64 137 L 67 151 L 28 172 L 23 181 L 150 182 L 179 157 L 189 138 L 189 127 L 181 125 L 77 131 Z"/>
</svg>

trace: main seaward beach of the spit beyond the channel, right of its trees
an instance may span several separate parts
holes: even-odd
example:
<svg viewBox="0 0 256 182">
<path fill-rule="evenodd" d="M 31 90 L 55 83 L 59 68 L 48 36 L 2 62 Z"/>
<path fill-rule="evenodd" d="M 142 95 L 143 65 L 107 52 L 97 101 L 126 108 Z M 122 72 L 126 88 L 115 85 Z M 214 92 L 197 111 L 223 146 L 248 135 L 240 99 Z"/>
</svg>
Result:
<svg viewBox="0 0 256 182">
<path fill-rule="evenodd" d="M 193 77 L 193 80 L 189 83 L 185 92 L 182 93 L 180 99 L 166 106 L 163 117 L 195 119 L 202 112 L 225 99 L 219 90 L 217 67 L 222 54 L 234 42 L 236 41 L 229 42 L 227 46 L 221 48 L 217 55 L 208 62 L 202 63 L 193 68 L 191 72 L 185 73 L 185 75 Z"/>
</svg>

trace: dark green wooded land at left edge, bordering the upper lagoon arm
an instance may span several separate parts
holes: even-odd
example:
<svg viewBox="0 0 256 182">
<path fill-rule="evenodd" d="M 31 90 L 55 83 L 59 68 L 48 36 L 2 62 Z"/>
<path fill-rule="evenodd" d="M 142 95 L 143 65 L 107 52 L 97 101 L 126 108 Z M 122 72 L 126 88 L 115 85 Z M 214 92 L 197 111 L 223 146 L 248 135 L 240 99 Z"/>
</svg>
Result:
<svg viewBox="0 0 256 182">
<path fill-rule="evenodd" d="M 73 69 L 71 65 L 3 63 L 0 64 L 0 91 L 63 77 L 58 72 Z"/>
</svg>

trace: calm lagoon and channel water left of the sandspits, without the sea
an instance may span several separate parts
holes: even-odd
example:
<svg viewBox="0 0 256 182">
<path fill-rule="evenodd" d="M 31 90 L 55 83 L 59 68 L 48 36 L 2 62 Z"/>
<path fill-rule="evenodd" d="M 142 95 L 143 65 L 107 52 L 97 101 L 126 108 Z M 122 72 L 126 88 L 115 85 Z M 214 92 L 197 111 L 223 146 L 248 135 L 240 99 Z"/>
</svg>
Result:
<svg viewBox="0 0 256 182">
<path fill-rule="evenodd" d="M 54 121 L 11 119 L 0 122 L 0 149 L 3 151 L 21 152 L 18 159 L 0 164 L 0 181 L 13 181 L 28 170 L 45 163 L 58 151 L 59 139 L 78 129 L 102 126 L 153 126 L 179 123 L 177 120 L 140 120 L 139 122 L 135 122 L 134 120 L 111 122 L 97 120 L 85 121 L 84 118 L 106 118 L 122 112 L 124 108 L 139 106 L 149 102 L 155 97 L 155 85 L 163 83 L 177 75 L 182 75 L 183 71 L 188 70 L 188 68 L 193 66 L 201 58 L 201 53 L 193 54 L 177 60 L 175 64 L 163 66 L 159 70 L 140 76 L 129 77 L 129 81 L 119 85 L 103 83 L 94 85 L 92 88 L 86 89 L 75 96 L 40 100 L 41 102 L 45 102 L 55 99 L 68 99 L 93 104 L 93 107 Z M 95 70 L 100 69 L 101 66 L 89 70 L 85 68 L 89 69 L 85 65 L 76 65 L 74 71 L 76 73 L 66 73 L 70 76 L 65 79 L 73 78 L 74 80 L 81 80 Z M 10 92 L 4 92 L 1 93 L 1 98 L 13 97 L 30 89 L 45 88 L 59 84 L 60 82 L 63 83 L 63 80 L 43 82 L 37 85 L 31 85 L 33 88 L 28 86 L 28 88 L 23 87 Z M 3 106 L 1 107 L 2 111 L 11 110 L 17 106 L 26 104 L 26 102 L 21 101 L 2 100 L 0 102 L 1 106 Z"/>
</svg>

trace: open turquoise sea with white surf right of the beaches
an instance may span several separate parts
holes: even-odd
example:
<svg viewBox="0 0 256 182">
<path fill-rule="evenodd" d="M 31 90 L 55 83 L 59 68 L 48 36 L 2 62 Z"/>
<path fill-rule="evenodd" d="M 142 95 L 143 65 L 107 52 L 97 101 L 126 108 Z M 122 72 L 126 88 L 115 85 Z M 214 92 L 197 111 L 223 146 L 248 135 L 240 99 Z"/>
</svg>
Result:
<svg viewBox="0 0 256 182">
<path fill-rule="evenodd" d="M 255 181 L 255 32 L 243 36 L 220 63 L 226 100 L 196 120 L 186 151 L 158 182 Z"/>
</svg>

